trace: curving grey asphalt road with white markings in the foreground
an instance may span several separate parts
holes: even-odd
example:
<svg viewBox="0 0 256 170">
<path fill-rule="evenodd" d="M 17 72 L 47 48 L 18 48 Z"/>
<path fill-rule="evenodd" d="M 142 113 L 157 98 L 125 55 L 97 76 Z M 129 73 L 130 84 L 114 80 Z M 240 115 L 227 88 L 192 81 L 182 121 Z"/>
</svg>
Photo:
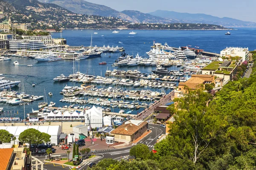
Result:
<svg viewBox="0 0 256 170">
<path fill-rule="evenodd" d="M 139 142 L 137 142 L 136 144 L 132 144 L 128 147 L 125 148 L 121 148 L 121 149 L 109 149 L 109 150 L 96 150 L 95 154 L 96 154 L 96 158 L 90 161 L 84 160 L 81 164 L 79 168 L 76 168 L 77 170 L 86 170 L 87 167 L 89 166 L 90 163 L 98 163 L 100 160 L 102 159 L 106 159 L 106 158 L 112 158 L 112 159 L 116 159 L 116 160 L 121 160 L 121 159 L 131 159 L 131 157 L 129 156 L 130 154 L 130 149 L 131 147 L 137 145 L 137 144 L 145 144 L 148 146 L 149 150 L 152 150 L 154 147 L 154 143 L 157 141 L 158 136 L 161 136 L 163 133 L 165 133 L 165 128 L 160 127 L 160 125 L 151 125 L 149 124 L 149 127 L 151 127 L 152 132 L 149 133 L 147 136 L 145 136 L 143 139 L 141 139 Z M 89 153 L 91 154 L 91 153 Z M 54 155 L 54 154 L 53 154 Z M 57 155 L 61 155 L 63 157 L 66 157 L 67 154 L 66 153 L 60 153 Z M 41 161 L 44 161 L 45 156 L 35 156 L 37 159 L 40 159 Z M 62 165 L 58 165 L 58 164 L 44 164 L 44 170 L 63 170 L 63 169 L 71 169 L 71 167 L 67 166 L 62 166 Z"/>
</svg>

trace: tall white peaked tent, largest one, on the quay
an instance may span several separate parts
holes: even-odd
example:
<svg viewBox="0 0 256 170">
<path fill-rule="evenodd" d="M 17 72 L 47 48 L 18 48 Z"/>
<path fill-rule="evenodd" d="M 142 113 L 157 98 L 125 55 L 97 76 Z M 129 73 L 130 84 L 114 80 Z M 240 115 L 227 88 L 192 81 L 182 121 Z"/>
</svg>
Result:
<svg viewBox="0 0 256 170">
<path fill-rule="evenodd" d="M 90 125 L 90 127 L 102 127 L 103 126 L 103 116 L 102 110 L 97 109 L 95 106 L 85 111 L 84 115 L 85 125 Z"/>
</svg>

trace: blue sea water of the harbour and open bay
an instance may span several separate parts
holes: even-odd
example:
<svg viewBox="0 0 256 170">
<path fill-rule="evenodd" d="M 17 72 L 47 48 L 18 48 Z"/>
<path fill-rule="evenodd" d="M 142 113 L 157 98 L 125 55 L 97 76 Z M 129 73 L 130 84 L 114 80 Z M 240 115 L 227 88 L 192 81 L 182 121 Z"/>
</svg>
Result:
<svg viewBox="0 0 256 170">
<path fill-rule="evenodd" d="M 112 30 L 114 31 L 114 30 Z M 168 43 L 169 46 L 179 47 L 191 45 L 191 47 L 199 47 L 204 49 L 204 51 L 220 53 L 220 51 L 226 47 L 248 47 L 250 51 L 256 49 L 256 28 L 234 28 L 231 30 L 231 35 L 225 35 L 226 30 L 133 30 L 138 34 L 128 34 L 131 30 L 119 30 L 120 33 L 113 34 L 111 30 L 63 30 L 62 37 L 67 40 L 67 44 L 70 46 L 89 46 L 91 41 L 91 35 L 93 35 L 93 46 L 122 46 L 125 48 L 126 54 L 136 55 L 139 53 L 140 56 L 147 57 L 146 52 L 151 48 L 153 41 L 164 44 Z M 98 32 L 98 34 L 93 34 Z M 104 35 L 104 36 L 102 36 Z M 53 38 L 60 38 L 61 33 L 53 33 Z M 102 57 L 91 58 L 80 60 L 76 62 L 76 68 L 82 73 L 88 73 L 91 75 L 105 75 L 105 71 L 113 70 L 111 64 L 116 60 L 117 57 L 121 55 L 119 53 L 103 53 Z M 111 57 L 108 57 L 108 56 Z M 13 62 L 17 60 L 20 65 L 14 66 Z M 107 65 L 99 65 L 99 62 L 105 61 Z M 27 65 L 32 64 L 34 67 L 27 67 Z M 155 67 L 144 67 L 136 66 L 132 68 L 124 67 L 120 68 L 123 70 L 137 69 L 143 73 L 151 73 Z M 170 67 L 169 70 L 178 70 L 176 66 Z M 13 57 L 10 61 L 0 62 L 0 73 L 4 74 L 6 79 L 9 80 L 20 80 L 21 83 L 17 88 L 13 88 L 15 91 L 24 91 L 31 95 L 44 95 L 44 89 L 47 94 L 48 103 L 50 101 L 56 102 L 56 107 L 62 107 L 64 105 L 69 105 L 69 103 L 61 103 L 59 100 L 63 97 L 59 92 L 64 88 L 65 85 L 80 86 L 81 83 L 76 82 L 53 82 L 53 78 L 64 74 L 68 76 L 73 73 L 73 61 L 72 60 L 62 60 L 57 62 L 36 62 L 34 59 L 27 59 L 23 57 Z M 24 83 L 22 83 L 24 82 Z M 32 83 L 36 86 L 32 87 Z M 137 88 L 143 89 L 143 88 Z M 161 91 L 161 89 L 151 89 L 155 91 Z M 53 96 L 49 97 L 48 92 L 52 92 Z M 167 93 L 169 91 L 166 91 Z M 44 101 L 41 100 L 41 101 Z M 32 102 L 30 105 L 26 105 L 25 113 L 29 113 L 38 109 L 38 102 Z M 3 107 L 5 113 L 1 116 L 14 116 L 17 113 L 18 116 L 23 119 L 23 106 L 17 105 L 7 105 L 0 103 L 0 107 Z M 139 112 L 143 110 L 141 108 Z M 12 113 L 11 113 L 12 111 Z M 116 112 L 119 109 L 115 108 Z M 9 113 L 8 113 L 9 112 Z M 125 111 L 126 112 L 126 111 Z M 133 114 L 137 114 L 137 111 L 133 111 Z"/>
</svg>

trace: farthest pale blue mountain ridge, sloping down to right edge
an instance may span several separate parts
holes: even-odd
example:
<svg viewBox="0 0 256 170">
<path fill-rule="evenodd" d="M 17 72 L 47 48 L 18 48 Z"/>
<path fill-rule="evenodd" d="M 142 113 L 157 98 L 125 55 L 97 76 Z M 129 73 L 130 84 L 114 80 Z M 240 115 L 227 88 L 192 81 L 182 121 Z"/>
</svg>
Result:
<svg viewBox="0 0 256 170">
<path fill-rule="evenodd" d="M 180 13 L 175 11 L 162 11 L 157 10 L 154 12 L 150 12 L 148 14 L 173 19 L 173 20 L 179 20 L 180 23 L 207 23 L 207 24 L 215 24 L 215 25 L 222 25 L 227 27 L 254 27 L 256 26 L 256 23 L 253 22 L 247 22 L 247 21 L 241 21 L 236 20 L 233 18 L 228 17 L 214 17 L 212 15 L 207 14 L 189 14 L 189 13 Z"/>
</svg>

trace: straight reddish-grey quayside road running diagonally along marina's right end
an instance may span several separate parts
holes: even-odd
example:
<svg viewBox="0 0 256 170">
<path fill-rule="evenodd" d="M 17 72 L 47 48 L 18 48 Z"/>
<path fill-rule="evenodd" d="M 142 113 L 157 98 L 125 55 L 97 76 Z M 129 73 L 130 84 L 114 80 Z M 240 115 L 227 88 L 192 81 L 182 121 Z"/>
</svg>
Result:
<svg viewBox="0 0 256 170">
<path fill-rule="evenodd" d="M 137 120 L 144 120 L 144 118 L 148 117 L 151 113 L 154 112 L 154 109 L 157 106 L 165 106 L 166 103 L 169 103 L 171 100 L 171 97 L 174 96 L 174 91 L 171 91 L 169 94 L 167 94 L 164 98 L 160 99 L 155 105 L 151 105 L 149 109 L 145 109 L 145 111 L 142 111 L 139 113 L 140 116 L 138 116 L 136 119 Z"/>
</svg>

